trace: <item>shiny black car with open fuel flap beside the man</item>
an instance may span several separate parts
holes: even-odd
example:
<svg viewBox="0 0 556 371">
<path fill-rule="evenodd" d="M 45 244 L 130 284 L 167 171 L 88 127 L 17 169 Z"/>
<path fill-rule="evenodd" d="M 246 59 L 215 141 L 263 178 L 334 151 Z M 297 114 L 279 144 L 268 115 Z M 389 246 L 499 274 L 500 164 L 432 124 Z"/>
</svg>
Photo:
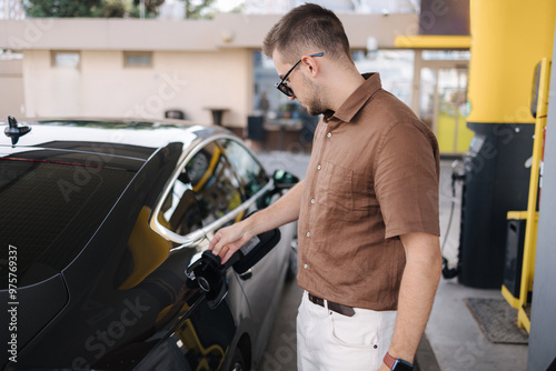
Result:
<svg viewBox="0 0 556 371">
<path fill-rule="evenodd" d="M 2 129 L 2 369 L 257 367 L 296 225 L 255 238 L 234 265 L 207 247 L 294 176 L 267 176 L 217 127 L 10 117 Z"/>
</svg>

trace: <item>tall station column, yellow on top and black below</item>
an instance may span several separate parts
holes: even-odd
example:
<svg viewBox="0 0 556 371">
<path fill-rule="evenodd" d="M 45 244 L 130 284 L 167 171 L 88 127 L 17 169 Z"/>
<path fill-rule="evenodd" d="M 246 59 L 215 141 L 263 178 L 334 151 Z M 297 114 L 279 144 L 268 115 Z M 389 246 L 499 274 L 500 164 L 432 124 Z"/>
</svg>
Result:
<svg viewBox="0 0 556 371">
<path fill-rule="evenodd" d="M 526 210 L 535 119 L 530 74 L 552 56 L 556 2 L 471 0 L 467 127 L 475 131 L 464 157 L 458 280 L 499 289 L 507 212 Z"/>
</svg>

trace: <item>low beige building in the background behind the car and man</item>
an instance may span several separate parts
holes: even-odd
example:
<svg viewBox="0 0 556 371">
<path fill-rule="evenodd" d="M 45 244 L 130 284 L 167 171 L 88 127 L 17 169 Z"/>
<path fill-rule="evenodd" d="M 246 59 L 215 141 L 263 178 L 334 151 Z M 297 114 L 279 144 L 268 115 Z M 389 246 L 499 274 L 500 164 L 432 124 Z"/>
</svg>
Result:
<svg viewBox="0 0 556 371">
<path fill-rule="evenodd" d="M 188 120 L 209 123 L 216 109 L 224 126 L 242 134 L 248 117 L 260 113 L 259 100 L 266 92 L 269 133 L 298 136 L 298 121 L 280 120 L 296 119 L 295 112 L 291 117 L 296 109 L 274 89 L 274 66 L 260 56 L 262 39 L 279 17 L 2 20 L 0 48 L 22 56 L 14 62 L 19 69 L 7 69 L 8 62 L 2 62 L 2 82 L 9 82 L 1 84 L 2 90 L 4 94 L 21 90 L 23 100 L 0 103 L 0 114 L 151 119 L 179 110 Z M 363 68 L 373 63 L 373 56 L 367 56 L 369 40 L 376 54 L 395 48 L 399 34 L 418 32 L 418 27 L 408 28 L 418 24 L 417 13 L 339 17 Z M 410 71 L 413 56 L 404 59 L 403 69 Z M 405 83 L 407 89 L 398 91 L 410 103 L 410 76 Z"/>
</svg>

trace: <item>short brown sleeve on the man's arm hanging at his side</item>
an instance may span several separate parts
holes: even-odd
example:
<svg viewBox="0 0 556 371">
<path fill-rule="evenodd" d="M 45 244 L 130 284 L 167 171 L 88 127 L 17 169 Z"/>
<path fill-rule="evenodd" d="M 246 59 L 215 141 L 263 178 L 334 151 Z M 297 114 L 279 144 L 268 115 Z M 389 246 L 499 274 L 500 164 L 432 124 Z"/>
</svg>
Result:
<svg viewBox="0 0 556 371">
<path fill-rule="evenodd" d="M 438 143 L 428 128 L 420 122 L 394 124 L 384 136 L 375 169 L 385 238 L 410 232 L 439 235 Z"/>
</svg>

